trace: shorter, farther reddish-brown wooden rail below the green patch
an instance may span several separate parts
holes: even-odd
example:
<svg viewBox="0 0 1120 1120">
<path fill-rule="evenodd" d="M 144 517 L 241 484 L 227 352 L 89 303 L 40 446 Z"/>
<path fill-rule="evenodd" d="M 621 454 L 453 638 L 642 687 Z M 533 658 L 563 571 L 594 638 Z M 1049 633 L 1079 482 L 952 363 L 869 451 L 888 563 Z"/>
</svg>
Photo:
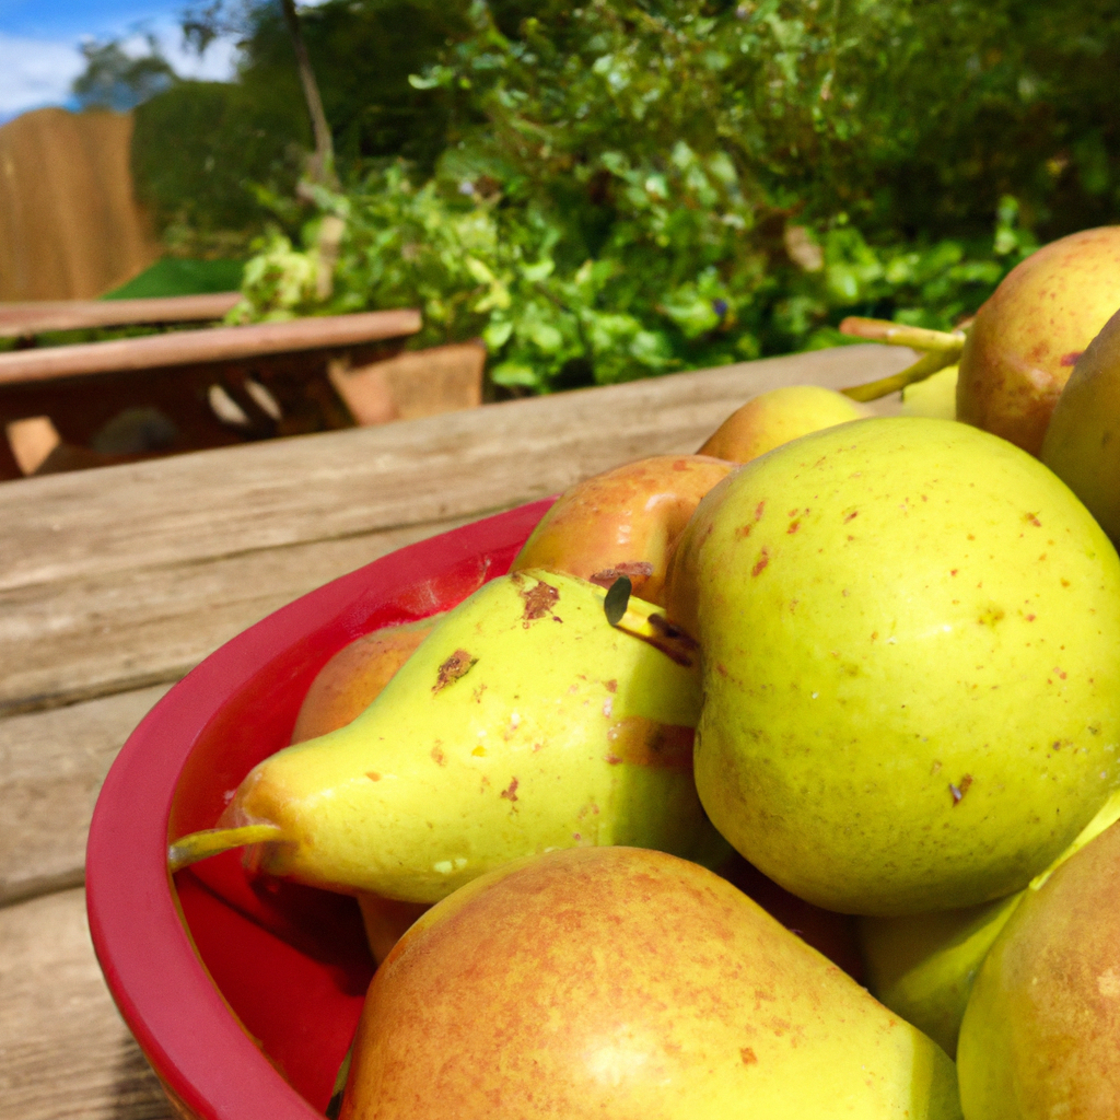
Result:
<svg viewBox="0 0 1120 1120">
<path fill-rule="evenodd" d="M 241 300 L 240 291 L 149 299 L 54 299 L 0 304 L 0 338 L 45 330 L 85 330 L 143 323 L 199 323 L 221 319 Z"/>
</svg>

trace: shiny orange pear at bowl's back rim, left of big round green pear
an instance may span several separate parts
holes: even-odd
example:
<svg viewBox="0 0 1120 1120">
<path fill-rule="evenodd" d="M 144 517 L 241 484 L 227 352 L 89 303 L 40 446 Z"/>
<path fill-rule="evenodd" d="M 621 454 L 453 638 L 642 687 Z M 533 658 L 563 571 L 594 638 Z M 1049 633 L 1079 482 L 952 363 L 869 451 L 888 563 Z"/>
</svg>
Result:
<svg viewBox="0 0 1120 1120">
<path fill-rule="evenodd" d="M 669 554 L 700 498 L 735 469 L 706 455 L 659 455 L 564 491 L 511 571 L 545 568 L 609 587 L 628 576 L 634 594 L 662 605 Z"/>
</svg>

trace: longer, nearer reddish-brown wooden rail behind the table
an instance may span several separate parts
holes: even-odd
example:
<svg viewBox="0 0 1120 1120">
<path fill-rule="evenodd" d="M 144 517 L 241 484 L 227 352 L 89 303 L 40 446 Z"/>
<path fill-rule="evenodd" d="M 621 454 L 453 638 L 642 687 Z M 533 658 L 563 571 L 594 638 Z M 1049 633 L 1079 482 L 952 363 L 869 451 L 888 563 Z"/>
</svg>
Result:
<svg viewBox="0 0 1120 1120">
<path fill-rule="evenodd" d="M 55 381 L 125 370 L 158 370 L 199 362 L 235 362 L 262 354 L 332 349 L 414 335 L 420 329 L 414 310 L 365 311 L 291 323 L 260 323 L 249 327 L 177 330 L 144 338 L 50 346 L 0 354 L 0 385 Z"/>
</svg>

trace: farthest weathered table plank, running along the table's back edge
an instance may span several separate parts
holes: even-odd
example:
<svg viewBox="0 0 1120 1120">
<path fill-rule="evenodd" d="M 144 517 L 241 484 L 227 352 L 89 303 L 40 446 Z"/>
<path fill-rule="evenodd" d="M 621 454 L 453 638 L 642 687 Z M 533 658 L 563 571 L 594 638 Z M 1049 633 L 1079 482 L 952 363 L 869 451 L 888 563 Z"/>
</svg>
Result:
<svg viewBox="0 0 1120 1120">
<path fill-rule="evenodd" d="M 694 450 L 749 396 L 903 368 L 851 346 L 0 485 L 0 589 L 478 516 Z M 887 405 L 888 407 L 888 405 Z M 547 454 L 541 454 L 547 448 Z"/>
</svg>

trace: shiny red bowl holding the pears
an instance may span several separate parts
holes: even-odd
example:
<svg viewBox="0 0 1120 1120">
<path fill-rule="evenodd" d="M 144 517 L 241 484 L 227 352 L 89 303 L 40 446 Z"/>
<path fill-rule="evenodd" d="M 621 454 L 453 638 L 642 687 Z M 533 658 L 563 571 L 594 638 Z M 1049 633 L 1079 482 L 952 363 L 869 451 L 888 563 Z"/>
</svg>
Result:
<svg viewBox="0 0 1120 1120">
<path fill-rule="evenodd" d="M 86 894 L 110 991 L 172 1104 L 203 1120 L 321 1116 L 373 961 L 353 899 L 252 880 L 236 853 L 167 871 L 244 775 L 287 746 L 312 678 L 361 634 L 505 572 L 535 502 L 336 579 L 226 643 L 124 744 L 90 830 Z"/>
</svg>

